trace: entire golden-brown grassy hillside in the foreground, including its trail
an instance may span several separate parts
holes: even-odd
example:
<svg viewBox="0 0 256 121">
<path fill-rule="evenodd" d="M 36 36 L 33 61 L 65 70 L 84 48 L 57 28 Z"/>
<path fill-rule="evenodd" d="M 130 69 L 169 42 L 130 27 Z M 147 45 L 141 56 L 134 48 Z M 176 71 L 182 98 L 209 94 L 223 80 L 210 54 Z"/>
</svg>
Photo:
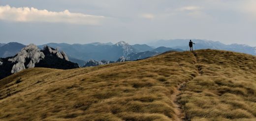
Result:
<svg viewBox="0 0 256 121">
<path fill-rule="evenodd" d="M 256 56 L 207 49 L 26 69 L 0 80 L 0 105 L 4 121 L 255 121 Z"/>
</svg>

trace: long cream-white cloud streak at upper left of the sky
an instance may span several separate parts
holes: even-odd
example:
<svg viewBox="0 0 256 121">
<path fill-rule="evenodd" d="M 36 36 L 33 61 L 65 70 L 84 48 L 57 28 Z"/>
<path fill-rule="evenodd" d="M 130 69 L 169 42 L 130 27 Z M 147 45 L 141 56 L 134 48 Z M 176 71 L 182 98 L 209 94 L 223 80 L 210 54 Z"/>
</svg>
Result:
<svg viewBox="0 0 256 121">
<path fill-rule="evenodd" d="M 98 25 L 104 16 L 88 15 L 83 13 L 71 13 L 68 10 L 61 12 L 38 10 L 29 7 L 0 6 L 0 20 L 15 22 L 51 22 Z"/>
</svg>

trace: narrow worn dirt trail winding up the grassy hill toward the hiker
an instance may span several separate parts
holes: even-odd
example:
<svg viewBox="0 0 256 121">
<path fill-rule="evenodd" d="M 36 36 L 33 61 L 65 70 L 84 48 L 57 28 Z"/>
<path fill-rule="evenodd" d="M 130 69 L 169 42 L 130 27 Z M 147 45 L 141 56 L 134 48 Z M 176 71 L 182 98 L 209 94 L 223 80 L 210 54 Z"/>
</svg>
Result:
<svg viewBox="0 0 256 121">
<path fill-rule="evenodd" d="M 201 72 L 201 67 L 197 65 L 197 61 L 198 61 L 198 57 L 197 57 L 197 53 L 192 51 L 194 57 L 195 57 L 195 68 L 197 73 L 199 74 L 199 76 L 202 75 Z M 196 75 L 197 76 L 197 75 Z M 196 76 L 194 76 L 191 80 L 192 81 Z M 183 109 L 182 109 L 182 105 L 179 103 L 179 95 L 182 94 L 182 92 L 184 91 L 184 88 L 186 88 L 186 84 L 189 81 L 185 81 L 183 83 L 178 84 L 176 91 L 172 94 L 171 98 L 173 99 L 173 104 L 176 108 L 175 110 L 175 114 L 178 116 L 178 119 L 176 121 L 191 121 L 186 114 L 184 113 Z"/>
</svg>

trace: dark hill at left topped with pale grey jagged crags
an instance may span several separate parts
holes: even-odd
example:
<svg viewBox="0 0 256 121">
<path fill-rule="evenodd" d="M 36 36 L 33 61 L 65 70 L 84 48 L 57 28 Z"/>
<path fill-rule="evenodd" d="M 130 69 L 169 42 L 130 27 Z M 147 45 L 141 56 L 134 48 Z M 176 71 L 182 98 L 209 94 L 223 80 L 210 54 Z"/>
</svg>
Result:
<svg viewBox="0 0 256 121">
<path fill-rule="evenodd" d="M 49 46 L 40 50 L 36 45 L 30 44 L 22 48 L 15 56 L 0 59 L 0 79 L 34 67 L 79 68 L 78 64 L 68 61 L 65 52 L 59 52 L 58 49 Z"/>
</svg>

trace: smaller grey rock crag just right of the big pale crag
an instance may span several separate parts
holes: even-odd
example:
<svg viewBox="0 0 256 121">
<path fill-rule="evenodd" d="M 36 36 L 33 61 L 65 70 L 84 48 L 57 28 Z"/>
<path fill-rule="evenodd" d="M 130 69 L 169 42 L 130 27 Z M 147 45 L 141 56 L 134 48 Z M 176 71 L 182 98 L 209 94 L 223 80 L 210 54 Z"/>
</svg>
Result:
<svg viewBox="0 0 256 121">
<path fill-rule="evenodd" d="M 50 46 L 45 45 L 45 46 L 43 47 L 43 52 L 44 52 L 45 54 L 49 54 L 49 55 L 56 55 L 57 57 L 59 57 L 59 58 L 61 58 L 61 59 L 65 59 L 66 61 L 68 61 L 68 58 L 67 58 L 66 53 L 63 52 L 63 51 L 62 51 L 62 52 L 59 52 L 59 51 L 58 51 L 58 48 L 54 49 L 54 48 L 52 48 L 52 47 L 50 47 Z"/>
</svg>

